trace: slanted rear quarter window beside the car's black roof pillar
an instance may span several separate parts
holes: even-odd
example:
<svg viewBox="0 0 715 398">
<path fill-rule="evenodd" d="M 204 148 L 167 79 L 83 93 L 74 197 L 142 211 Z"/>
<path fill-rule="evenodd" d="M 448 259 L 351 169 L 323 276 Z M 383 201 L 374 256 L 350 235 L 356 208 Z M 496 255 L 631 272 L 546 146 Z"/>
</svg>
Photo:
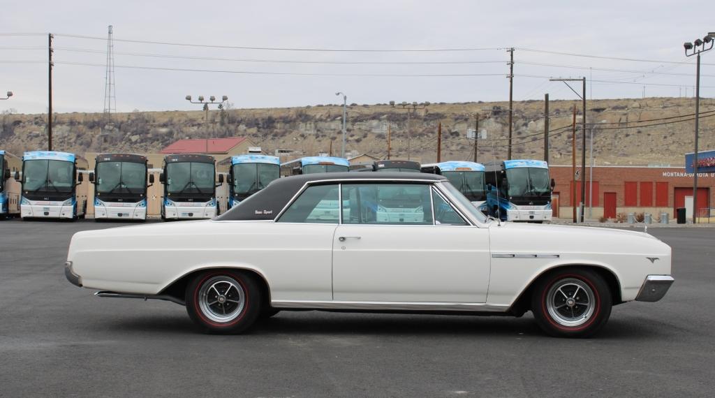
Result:
<svg viewBox="0 0 715 398">
<path fill-rule="evenodd" d="M 308 186 L 277 222 L 337 224 L 340 204 L 337 184 Z"/>
</svg>

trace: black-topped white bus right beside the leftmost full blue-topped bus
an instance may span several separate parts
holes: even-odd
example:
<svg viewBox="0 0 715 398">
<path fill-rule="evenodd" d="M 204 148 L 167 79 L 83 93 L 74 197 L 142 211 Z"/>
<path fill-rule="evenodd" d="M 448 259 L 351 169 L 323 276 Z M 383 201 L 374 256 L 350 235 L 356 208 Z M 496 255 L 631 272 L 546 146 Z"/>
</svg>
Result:
<svg viewBox="0 0 715 398">
<path fill-rule="evenodd" d="M 147 219 L 147 156 L 98 154 L 89 181 L 94 184 L 94 219 Z M 150 175 L 149 186 L 154 184 Z"/>
</svg>

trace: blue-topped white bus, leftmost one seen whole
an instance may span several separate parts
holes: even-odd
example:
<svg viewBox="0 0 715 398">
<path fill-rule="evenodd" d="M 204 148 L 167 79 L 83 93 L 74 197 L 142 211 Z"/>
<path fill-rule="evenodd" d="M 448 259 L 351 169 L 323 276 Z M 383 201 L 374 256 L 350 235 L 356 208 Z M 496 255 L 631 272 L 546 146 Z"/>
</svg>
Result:
<svg viewBox="0 0 715 398">
<path fill-rule="evenodd" d="M 87 183 L 83 182 L 87 166 L 87 159 L 67 152 L 25 152 L 22 156 L 21 217 L 84 217 Z"/>
</svg>

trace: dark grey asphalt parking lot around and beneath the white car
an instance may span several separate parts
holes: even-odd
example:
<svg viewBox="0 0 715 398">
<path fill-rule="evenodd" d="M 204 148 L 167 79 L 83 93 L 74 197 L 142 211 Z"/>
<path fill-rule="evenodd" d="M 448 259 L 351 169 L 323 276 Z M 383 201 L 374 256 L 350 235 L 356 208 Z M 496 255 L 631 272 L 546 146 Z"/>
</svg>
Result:
<svg viewBox="0 0 715 398">
<path fill-rule="evenodd" d="M 71 234 L 127 224 L 0 222 L 1 397 L 711 396 L 715 229 L 651 228 L 674 248 L 657 303 L 614 307 L 591 339 L 509 317 L 281 312 L 197 333 L 184 307 L 66 282 Z"/>
</svg>

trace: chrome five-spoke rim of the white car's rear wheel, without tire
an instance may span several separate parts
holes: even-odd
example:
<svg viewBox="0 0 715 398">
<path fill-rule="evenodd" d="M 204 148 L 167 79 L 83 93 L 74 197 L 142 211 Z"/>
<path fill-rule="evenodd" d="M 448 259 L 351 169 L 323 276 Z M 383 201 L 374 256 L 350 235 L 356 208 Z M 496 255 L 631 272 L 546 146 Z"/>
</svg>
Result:
<svg viewBox="0 0 715 398">
<path fill-rule="evenodd" d="M 245 305 L 243 287 L 232 277 L 212 277 L 199 289 L 201 312 L 213 322 L 231 322 L 241 314 Z"/>
</svg>

